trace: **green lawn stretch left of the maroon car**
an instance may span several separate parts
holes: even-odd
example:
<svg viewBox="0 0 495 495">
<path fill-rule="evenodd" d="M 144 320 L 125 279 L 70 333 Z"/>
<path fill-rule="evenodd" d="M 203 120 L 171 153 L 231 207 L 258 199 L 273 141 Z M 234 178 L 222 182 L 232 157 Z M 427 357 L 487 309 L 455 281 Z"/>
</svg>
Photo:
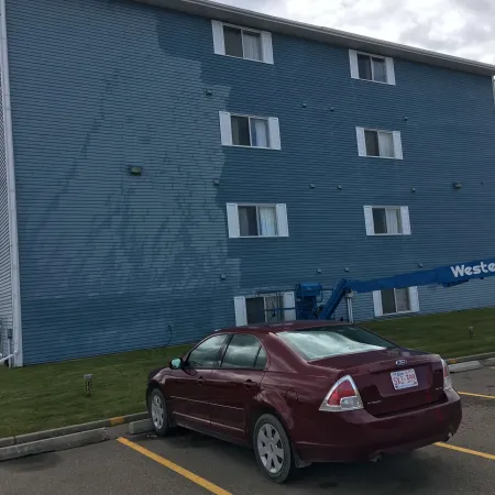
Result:
<svg viewBox="0 0 495 495">
<path fill-rule="evenodd" d="M 0 438 L 146 410 L 147 373 L 188 345 L 41 364 L 0 366 Z M 82 376 L 92 373 L 86 396 Z"/>
</svg>

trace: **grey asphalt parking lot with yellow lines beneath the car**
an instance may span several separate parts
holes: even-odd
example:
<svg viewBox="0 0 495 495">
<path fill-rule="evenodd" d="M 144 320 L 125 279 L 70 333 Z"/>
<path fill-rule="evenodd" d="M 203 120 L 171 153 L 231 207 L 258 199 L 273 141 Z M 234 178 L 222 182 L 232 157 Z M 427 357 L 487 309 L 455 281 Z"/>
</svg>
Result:
<svg viewBox="0 0 495 495">
<path fill-rule="evenodd" d="M 257 471 L 249 450 L 197 433 L 153 436 L 54 452 L 0 464 L 2 495 L 492 494 L 495 486 L 495 369 L 453 375 L 464 419 L 448 444 L 383 462 L 319 464 L 290 484 Z M 464 395 L 473 394 L 473 395 Z"/>
</svg>

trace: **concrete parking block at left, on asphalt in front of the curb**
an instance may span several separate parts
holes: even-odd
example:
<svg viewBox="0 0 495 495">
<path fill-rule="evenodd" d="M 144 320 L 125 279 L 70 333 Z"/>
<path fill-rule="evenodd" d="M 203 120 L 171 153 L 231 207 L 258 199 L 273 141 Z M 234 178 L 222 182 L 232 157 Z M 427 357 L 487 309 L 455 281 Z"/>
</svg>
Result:
<svg viewBox="0 0 495 495">
<path fill-rule="evenodd" d="M 89 446 L 109 440 L 107 428 L 97 430 L 81 431 L 79 433 L 65 435 L 63 437 L 47 438 L 29 443 L 4 447 L 0 449 L 0 461 L 23 458 L 43 452 L 54 452 L 57 450 L 67 450 L 75 447 Z"/>
</svg>

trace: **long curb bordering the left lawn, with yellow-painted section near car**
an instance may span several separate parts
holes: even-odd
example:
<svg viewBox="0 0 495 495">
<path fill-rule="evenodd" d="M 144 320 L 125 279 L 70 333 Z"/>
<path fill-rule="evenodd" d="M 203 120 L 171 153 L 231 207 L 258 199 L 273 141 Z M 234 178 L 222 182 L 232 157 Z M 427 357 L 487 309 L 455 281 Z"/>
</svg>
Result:
<svg viewBox="0 0 495 495">
<path fill-rule="evenodd" d="M 84 422 L 81 425 L 73 425 L 63 428 L 55 428 L 53 430 L 36 431 L 34 433 L 18 435 L 16 437 L 9 437 L 0 439 L 0 448 L 20 446 L 23 443 L 35 442 L 38 440 L 46 440 L 56 437 L 66 437 L 69 435 L 80 433 L 89 430 L 97 430 L 99 428 L 110 428 L 117 425 L 123 425 L 131 421 L 139 421 L 148 418 L 147 413 L 138 413 L 135 415 L 117 416 L 109 419 L 100 419 L 98 421 Z"/>
</svg>

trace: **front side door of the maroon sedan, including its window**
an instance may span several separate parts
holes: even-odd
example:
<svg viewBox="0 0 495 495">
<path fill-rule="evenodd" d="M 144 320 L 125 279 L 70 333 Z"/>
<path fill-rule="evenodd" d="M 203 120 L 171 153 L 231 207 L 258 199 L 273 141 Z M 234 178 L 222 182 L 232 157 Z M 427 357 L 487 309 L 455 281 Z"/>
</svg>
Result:
<svg viewBox="0 0 495 495">
<path fill-rule="evenodd" d="M 183 367 L 166 380 L 169 413 L 173 420 L 191 429 L 208 429 L 209 378 L 219 364 L 220 351 L 228 336 L 213 336 L 199 343 L 186 356 Z"/>
</svg>

